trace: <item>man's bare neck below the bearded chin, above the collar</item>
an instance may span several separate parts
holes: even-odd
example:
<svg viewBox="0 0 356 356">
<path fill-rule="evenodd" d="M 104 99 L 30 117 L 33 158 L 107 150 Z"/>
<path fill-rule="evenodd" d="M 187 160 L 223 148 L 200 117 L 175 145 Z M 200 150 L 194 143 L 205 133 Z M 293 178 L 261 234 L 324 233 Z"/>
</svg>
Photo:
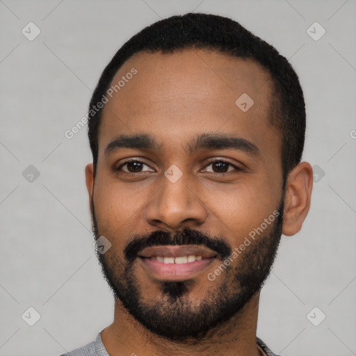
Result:
<svg viewBox="0 0 356 356">
<path fill-rule="evenodd" d="M 252 297 L 238 314 L 210 330 L 199 341 L 170 341 L 149 332 L 115 302 L 113 323 L 102 332 L 102 342 L 111 356 L 259 356 L 256 343 L 259 294 Z"/>
</svg>

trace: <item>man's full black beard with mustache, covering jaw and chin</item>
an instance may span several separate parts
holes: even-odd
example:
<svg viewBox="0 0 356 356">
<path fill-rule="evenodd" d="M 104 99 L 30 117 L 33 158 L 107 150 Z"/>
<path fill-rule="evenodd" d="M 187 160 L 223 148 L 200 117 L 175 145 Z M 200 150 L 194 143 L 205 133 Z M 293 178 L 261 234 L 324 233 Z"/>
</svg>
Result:
<svg viewBox="0 0 356 356">
<path fill-rule="evenodd" d="M 232 249 L 218 237 L 184 229 L 176 234 L 156 231 L 147 236 L 130 236 L 122 257 L 111 248 L 105 254 L 97 252 L 102 274 L 125 309 L 146 330 L 170 341 L 195 342 L 207 337 L 216 327 L 227 323 L 261 290 L 273 266 L 282 235 L 283 197 L 277 211 L 279 215 L 258 238 L 224 266 L 220 279 L 208 280 L 211 284 L 200 300 L 192 300 L 190 291 L 195 280 L 154 281 L 161 294 L 156 298 L 144 298 L 142 285 L 136 277 L 134 262 L 138 252 L 154 245 L 205 245 L 217 252 L 223 261 Z M 95 208 L 92 202 L 93 232 L 99 238 Z M 113 236 L 108 238 L 115 241 Z M 199 288 L 199 286 L 196 286 Z M 208 334 L 209 336 L 209 334 Z"/>
</svg>

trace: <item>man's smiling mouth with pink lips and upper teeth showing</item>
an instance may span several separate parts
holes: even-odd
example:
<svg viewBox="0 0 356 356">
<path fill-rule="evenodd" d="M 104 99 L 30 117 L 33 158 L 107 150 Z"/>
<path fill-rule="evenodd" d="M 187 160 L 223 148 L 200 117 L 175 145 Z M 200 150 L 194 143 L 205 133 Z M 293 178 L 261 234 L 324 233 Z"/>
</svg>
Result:
<svg viewBox="0 0 356 356">
<path fill-rule="evenodd" d="M 181 281 L 197 277 L 218 254 L 200 245 L 164 245 L 145 248 L 138 260 L 156 280 Z"/>
</svg>

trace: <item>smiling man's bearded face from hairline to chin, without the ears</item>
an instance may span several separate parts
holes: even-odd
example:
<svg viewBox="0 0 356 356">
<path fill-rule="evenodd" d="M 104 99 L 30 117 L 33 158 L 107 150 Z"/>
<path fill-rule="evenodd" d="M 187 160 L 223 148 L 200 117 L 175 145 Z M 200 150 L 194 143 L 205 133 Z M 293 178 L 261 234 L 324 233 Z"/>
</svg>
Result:
<svg viewBox="0 0 356 356">
<path fill-rule="evenodd" d="M 148 330 L 203 337 L 256 296 L 280 241 L 270 78 L 251 60 L 186 50 L 136 54 L 112 83 L 132 67 L 99 128 L 92 213 L 111 248 L 98 256 Z"/>
</svg>

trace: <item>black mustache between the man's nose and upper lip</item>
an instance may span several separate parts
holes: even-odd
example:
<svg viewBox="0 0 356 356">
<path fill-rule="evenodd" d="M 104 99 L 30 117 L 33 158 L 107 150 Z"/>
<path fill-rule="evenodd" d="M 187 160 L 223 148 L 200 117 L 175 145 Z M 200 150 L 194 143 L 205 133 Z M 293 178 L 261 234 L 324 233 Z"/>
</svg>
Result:
<svg viewBox="0 0 356 356">
<path fill-rule="evenodd" d="M 232 249 L 229 248 L 223 239 L 210 237 L 193 229 L 184 229 L 175 234 L 155 231 L 147 234 L 147 236 L 135 235 L 130 240 L 124 248 L 124 257 L 129 262 L 133 262 L 138 257 L 140 250 L 158 245 L 204 245 L 220 254 L 220 259 L 222 260 L 232 254 Z"/>
</svg>

